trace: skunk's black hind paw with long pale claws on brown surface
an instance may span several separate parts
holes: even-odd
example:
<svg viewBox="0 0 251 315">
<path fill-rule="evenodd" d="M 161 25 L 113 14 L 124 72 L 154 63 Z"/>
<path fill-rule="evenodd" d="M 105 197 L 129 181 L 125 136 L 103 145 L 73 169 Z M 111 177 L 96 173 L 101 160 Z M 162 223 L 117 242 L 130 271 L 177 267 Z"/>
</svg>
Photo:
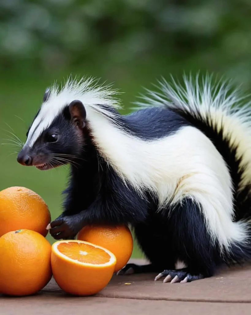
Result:
<svg viewBox="0 0 251 315">
<path fill-rule="evenodd" d="M 163 272 L 159 273 L 157 277 L 155 277 L 155 281 L 160 279 L 160 278 L 165 278 L 163 280 L 163 283 L 165 282 L 170 282 L 175 283 L 175 282 L 180 282 L 180 283 L 186 283 L 186 282 L 191 282 L 199 279 L 203 279 L 204 276 L 202 274 L 198 275 L 191 275 L 187 270 L 180 269 L 180 270 L 164 270 Z"/>
</svg>

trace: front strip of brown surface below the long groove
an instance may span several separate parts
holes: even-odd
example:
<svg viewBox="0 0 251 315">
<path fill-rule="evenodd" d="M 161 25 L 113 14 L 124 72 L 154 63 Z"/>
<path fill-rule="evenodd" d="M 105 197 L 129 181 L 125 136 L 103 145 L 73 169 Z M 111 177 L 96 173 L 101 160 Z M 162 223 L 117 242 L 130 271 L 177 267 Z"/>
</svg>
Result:
<svg viewBox="0 0 251 315">
<path fill-rule="evenodd" d="M 0 301 L 1 315 L 250 315 L 247 303 L 177 302 L 48 296 Z"/>
</svg>

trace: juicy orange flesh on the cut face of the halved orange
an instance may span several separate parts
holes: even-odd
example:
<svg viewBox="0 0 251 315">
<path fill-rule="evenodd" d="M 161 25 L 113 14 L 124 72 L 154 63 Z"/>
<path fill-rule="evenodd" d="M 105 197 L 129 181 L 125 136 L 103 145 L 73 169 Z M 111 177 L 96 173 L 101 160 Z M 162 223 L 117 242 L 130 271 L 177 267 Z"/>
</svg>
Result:
<svg viewBox="0 0 251 315">
<path fill-rule="evenodd" d="M 86 243 L 61 243 L 57 246 L 57 249 L 67 257 L 94 265 L 106 264 L 110 261 L 111 256 L 103 249 Z"/>
</svg>

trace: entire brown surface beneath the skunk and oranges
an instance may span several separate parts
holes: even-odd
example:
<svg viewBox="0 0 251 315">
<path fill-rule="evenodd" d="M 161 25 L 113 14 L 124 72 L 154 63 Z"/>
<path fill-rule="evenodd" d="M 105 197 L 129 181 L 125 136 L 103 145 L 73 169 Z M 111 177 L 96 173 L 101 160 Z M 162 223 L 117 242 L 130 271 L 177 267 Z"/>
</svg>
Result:
<svg viewBox="0 0 251 315">
<path fill-rule="evenodd" d="M 52 279 L 36 295 L 0 297 L 0 314 L 251 314 L 251 266 L 225 268 L 186 284 L 154 282 L 155 276 L 114 275 L 92 297 L 67 295 Z"/>
</svg>

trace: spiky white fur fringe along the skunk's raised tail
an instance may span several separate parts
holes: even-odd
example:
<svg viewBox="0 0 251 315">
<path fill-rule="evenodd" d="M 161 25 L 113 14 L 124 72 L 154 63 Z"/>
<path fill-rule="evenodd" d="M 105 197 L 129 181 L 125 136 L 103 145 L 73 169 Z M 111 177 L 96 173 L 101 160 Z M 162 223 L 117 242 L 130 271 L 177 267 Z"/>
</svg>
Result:
<svg viewBox="0 0 251 315">
<path fill-rule="evenodd" d="M 245 102 L 241 91 L 231 91 L 230 82 L 219 80 L 212 82 L 212 76 L 202 78 L 199 75 L 195 83 L 192 77 L 184 76 L 184 87 L 172 78 L 173 86 L 164 79 L 159 82 L 161 92 L 148 91 L 143 96 L 145 103 L 138 102 L 139 107 L 166 106 L 190 112 L 193 116 L 200 113 L 203 119 L 209 118 L 211 126 L 223 130 L 223 137 L 231 146 L 237 148 L 237 158 L 241 157 L 240 168 L 244 169 L 239 188 L 251 182 L 251 102 Z M 223 127 L 223 128 L 222 128 Z"/>
</svg>

